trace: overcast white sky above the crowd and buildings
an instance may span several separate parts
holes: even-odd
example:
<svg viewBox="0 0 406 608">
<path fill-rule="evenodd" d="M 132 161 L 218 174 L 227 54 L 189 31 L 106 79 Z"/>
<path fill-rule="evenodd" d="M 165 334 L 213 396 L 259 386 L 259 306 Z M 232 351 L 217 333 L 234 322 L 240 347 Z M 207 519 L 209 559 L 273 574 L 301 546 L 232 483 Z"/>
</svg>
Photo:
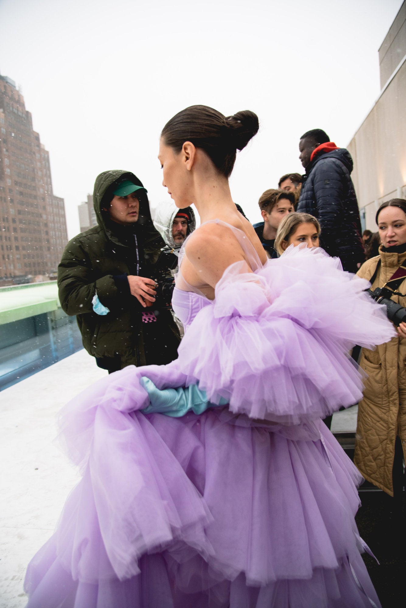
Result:
<svg viewBox="0 0 406 608">
<path fill-rule="evenodd" d="M 133 171 L 151 206 L 168 198 L 163 125 L 194 103 L 251 109 L 260 133 L 238 155 L 235 202 L 302 173 L 298 140 L 345 147 L 379 95 L 377 50 L 402 0 L 0 0 L 0 72 L 21 85 L 50 153 L 69 237 L 101 171 Z"/>
</svg>

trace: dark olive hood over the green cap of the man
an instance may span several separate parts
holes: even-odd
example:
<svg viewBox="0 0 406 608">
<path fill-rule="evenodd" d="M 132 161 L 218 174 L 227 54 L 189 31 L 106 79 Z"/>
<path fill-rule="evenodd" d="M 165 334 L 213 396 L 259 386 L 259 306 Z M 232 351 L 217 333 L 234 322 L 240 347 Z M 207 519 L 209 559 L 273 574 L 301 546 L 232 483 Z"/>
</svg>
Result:
<svg viewBox="0 0 406 608">
<path fill-rule="evenodd" d="M 111 199 L 113 198 L 113 192 L 117 188 L 117 185 L 120 182 L 129 179 L 129 181 L 134 182 L 137 186 L 144 187 L 140 179 L 137 178 L 134 173 L 131 171 L 123 171 L 120 169 L 115 169 L 111 171 L 103 171 L 100 175 L 97 176 L 96 181 L 94 182 L 94 191 L 93 191 L 93 206 L 97 218 L 98 225 L 105 230 L 106 235 L 111 241 L 114 243 L 120 243 L 117 240 L 117 237 L 114 235 L 112 230 L 109 227 L 108 222 L 106 223 L 106 212 L 103 211 L 103 206 L 107 205 Z M 146 196 L 145 192 L 140 192 L 139 195 L 140 208 L 139 208 L 139 217 L 137 221 L 137 227 L 143 228 L 142 233 L 146 237 L 144 241 L 156 241 L 156 245 L 159 247 L 163 247 L 162 240 L 159 237 L 159 233 L 154 228 L 154 224 L 151 218 L 150 211 L 150 203 L 148 201 L 148 196 Z"/>
</svg>

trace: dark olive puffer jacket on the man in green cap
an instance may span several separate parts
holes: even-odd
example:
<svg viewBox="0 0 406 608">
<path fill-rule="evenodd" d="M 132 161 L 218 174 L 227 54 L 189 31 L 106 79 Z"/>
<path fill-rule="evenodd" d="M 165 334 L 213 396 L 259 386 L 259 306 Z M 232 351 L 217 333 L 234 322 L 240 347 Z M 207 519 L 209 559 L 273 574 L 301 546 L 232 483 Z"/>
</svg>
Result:
<svg viewBox="0 0 406 608">
<path fill-rule="evenodd" d="M 129 292 L 126 275 L 137 274 L 136 248 L 131 240 L 120 238 L 126 227 L 109 221 L 101 210 L 103 197 L 104 206 L 112 199 L 115 182 L 125 179 L 142 186 L 127 171 L 105 171 L 98 176 L 93 195 L 98 225 L 69 241 L 58 266 L 61 306 L 65 313 L 77 316 L 84 348 L 98 359 L 100 367 L 110 370 L 131 364 L 168 363 L 177 357 L 180 340 L 169 310 L 142 308 Z M 155 263 L 165 243 L 152 223 L 146 194 L 140 194 L 139 200 L 135 232 L 140 253 L 138 274 L 157 278 Z M 96 292 L 110 311 L 105 316 L 93 310 Z M 155 311 L 157 321 L 143 322 L 143 311 Z"/>
</svg>

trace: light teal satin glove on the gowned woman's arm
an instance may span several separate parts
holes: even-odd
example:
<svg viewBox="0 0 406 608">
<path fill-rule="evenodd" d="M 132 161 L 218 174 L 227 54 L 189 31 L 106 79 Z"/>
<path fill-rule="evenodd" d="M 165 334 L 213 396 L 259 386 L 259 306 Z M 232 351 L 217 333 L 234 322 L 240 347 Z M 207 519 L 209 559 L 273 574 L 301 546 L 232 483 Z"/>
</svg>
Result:
<svg viewBox="0 0 406 608">
<path fill-rule="evenodd" d="M 159 390 L 153 381 L 145 376 L 142 376 L 140 382 L 150 397 L 150 405 L 141 410 L 145 414 L 161 413 L 172 418 L 181 418 L 187 412 L 201 414 L 208 407 L 218 407 L 216 403 L 207 401 L 205 391 L 199 389 L 197 384 L 191 384 L 185 389 Z M 227 401 L 221 398 L 219 406 L 225 405 Z"/>
</svg>

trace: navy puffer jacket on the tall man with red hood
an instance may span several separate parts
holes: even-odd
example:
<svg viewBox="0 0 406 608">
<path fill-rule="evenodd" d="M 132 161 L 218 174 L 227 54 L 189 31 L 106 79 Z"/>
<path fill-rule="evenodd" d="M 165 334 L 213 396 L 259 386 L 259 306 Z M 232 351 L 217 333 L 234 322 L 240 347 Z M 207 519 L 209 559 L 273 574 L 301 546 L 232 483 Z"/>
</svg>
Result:
<svg viewBox="0 0 406 608">
<path fill-rule="evenodd" d="M 357 272 L 365 252 L 352 170 L 353 159 L 345 148 L 320 151 L 306 167 L 297 211 L 318 219 L 320 246 L 339 257 L 344 270 Z"/>
</svg>

